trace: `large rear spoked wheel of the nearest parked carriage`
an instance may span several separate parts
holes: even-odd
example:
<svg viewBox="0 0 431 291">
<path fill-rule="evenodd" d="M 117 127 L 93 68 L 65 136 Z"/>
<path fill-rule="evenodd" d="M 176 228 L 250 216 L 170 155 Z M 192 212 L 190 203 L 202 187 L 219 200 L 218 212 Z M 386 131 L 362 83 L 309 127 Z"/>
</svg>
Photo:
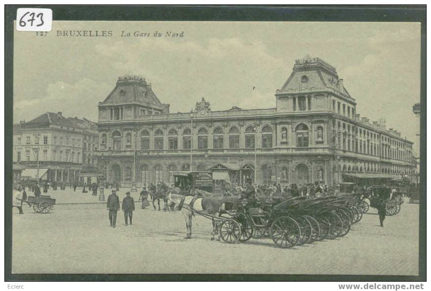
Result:
<svg viewBox="0 0 431 291">
<path fill-rule="evenodd" d="M 271 237 L 278 246 L 289 248 L 298 243 L 301 229 L 295 219 L 282 216 L 272 222 Z"/>
</svg>

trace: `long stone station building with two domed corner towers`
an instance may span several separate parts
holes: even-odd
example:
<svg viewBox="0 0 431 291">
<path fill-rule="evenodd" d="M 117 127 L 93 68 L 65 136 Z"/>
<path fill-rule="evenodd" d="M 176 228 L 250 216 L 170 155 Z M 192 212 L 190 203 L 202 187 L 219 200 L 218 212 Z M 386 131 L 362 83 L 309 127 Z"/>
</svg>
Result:
<svg viewBox="0 0 431 291">
<path fill-rule="evenodd" d="M 123 185 L 172 182 L 170 172 L 190 169 L 236 183 L 300 184 L 414 171 L 413 143 L 360 118 L 323 60 L 296 60 L 275 99 L 275 108 L 211 111 L 202 98 L 192 113 L 169 113 L 144 78 L 119 77 L 98 106 L 100 167 Z"/>
</svg>

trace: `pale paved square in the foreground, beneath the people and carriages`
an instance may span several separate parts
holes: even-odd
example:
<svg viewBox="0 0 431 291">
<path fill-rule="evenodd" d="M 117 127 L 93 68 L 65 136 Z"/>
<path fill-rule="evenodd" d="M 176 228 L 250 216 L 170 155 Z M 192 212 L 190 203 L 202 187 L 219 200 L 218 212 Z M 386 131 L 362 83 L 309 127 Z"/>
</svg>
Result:
<svg viewBox="0 0 431 291">
<path fill-rule="evenodd" d="M 116 228 L 102 204 L 56 205 L 45 215 L 24 210 L 13 210 L 15 273 L 418 273 L 415 204 L 404 203 L 383 228 L 371 208 L 347 236 L 292 249 L 271 239 L 213 242 L 211 221 L 201 217 L 193 218 L 192 239 L 185 240 L 181 213 L 149 208 L 137 208 L 132 226 L 119 212 Z"/>
</svg>

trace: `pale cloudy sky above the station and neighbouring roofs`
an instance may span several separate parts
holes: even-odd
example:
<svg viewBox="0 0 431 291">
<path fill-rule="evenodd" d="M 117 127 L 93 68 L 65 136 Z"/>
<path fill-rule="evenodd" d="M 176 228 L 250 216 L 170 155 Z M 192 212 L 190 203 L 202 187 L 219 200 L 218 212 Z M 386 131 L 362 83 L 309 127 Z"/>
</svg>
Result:
<svg viewBox="0 0 431 291">
<path fill-rule="evenodd" d="M 57 30 L 110 30 L 112 37 Z M 184 33 L 153 37 L 156 31 Z M 383 118 L 416 142 L 419 23 L 54 21 L 46 36 L 14 33 L 14 122 L 47 111 L 97 121 L 98 102 L 125 74 L 144 76 L 172 113 L 201 97 L 212 110 L 271 108 L 295 60 L 307 54 L 337 69 L 361 117 Z"/>
</svg>

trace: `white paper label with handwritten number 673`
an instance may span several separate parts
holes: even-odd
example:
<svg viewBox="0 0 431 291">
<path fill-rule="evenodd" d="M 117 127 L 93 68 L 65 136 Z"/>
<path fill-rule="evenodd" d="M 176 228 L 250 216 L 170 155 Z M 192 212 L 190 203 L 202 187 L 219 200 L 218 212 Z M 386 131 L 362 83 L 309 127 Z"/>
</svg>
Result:
<svg viewBox="0 0 431 291">
<path fill-rule="evenodd" d="M 45 8 L 18 8 L 17 30 L 19 31 L 51 31 L 53 26 L 53 10 Z"/>
</svg>

